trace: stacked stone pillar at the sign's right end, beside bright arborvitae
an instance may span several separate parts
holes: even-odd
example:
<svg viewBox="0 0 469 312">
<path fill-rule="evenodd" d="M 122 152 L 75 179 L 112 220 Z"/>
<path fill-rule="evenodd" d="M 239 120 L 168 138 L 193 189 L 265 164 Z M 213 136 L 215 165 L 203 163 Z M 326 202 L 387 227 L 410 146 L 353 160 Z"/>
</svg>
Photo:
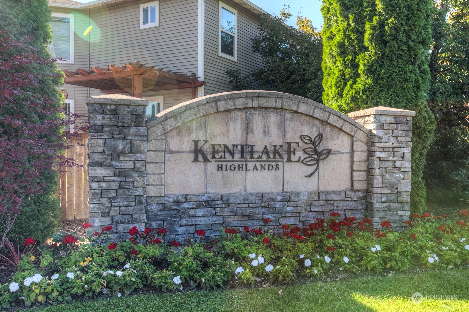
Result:
<svg viewBox="0 0 469 312">
<path fill-rule="evenodd" d="M 367 215 L 375 227 L 403 226 L 410 215 L 412 116 L 414 111 L 375 107 L 348 114 L 371 131 Z"/>
</svg>

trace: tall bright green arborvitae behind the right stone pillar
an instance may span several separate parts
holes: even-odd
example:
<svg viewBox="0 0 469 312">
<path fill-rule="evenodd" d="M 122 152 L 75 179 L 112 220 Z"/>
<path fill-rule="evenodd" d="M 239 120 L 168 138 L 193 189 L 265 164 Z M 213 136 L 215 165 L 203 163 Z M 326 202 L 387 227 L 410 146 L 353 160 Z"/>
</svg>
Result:
<svg viewBox="0 0 469 312">
<path fill-rule="evenodd" d="M 431 0 L 324 0 L 322 13 L 324 103 L 343 113 L 379 105 L 416 111 L 411 210 L 423 209 L 435 128 L 426 104 Z"/>
</svg>

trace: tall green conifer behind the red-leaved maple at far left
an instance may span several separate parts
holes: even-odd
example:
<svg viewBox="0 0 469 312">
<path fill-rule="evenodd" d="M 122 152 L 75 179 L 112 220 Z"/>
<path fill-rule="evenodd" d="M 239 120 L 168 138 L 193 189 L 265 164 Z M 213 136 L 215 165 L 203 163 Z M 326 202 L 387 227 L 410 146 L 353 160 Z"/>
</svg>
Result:
<svg viewBox="0 0 469 312">
<path fill-rule="evenodd" d="M 52 32 L 49 26 L 51 11 L 47 1 L 0 0 L 0 8 L 0 29 L 7 30 L 2 36 L 11 36 L 18 42 L 25 42 L 23 38 L 26 36 L 33 38 L 26 41 L 31 46 L 29 51 L 25 46 L 17 49 L 17 59 L 27 58 L 32 53 L 40 59 L 49 59 L 50 54 L 47 51 L 47 45 L 51 41 Z M 5 64 L 15 64 L 3 68 L 2 74 L 18 79 L 17 77 L 27 73 L 34 83 L 18 85 L 10 94 L 11 97 L 6 98 L 4 102 L 2 101 L 2 104 L 5 105 L 1 107 L 1 117 L 15 116 L 19 122 L 24 124 L 24 127 L 38 125 L 38 128 L 47 129 L 42 134 L 38 129 L 39 137 L 34 134 L 34 138 L 31 137 L 30 142 L 40 142 L 31 144 L 40 144 L 42 145 L 41 148 L 47 147 L 46 150 L 49 152 L 43 156 L 37 153 L 30 154 L 27 159 L 22 160 L 26 165 L 18 173 L 20 176 L 17 179 L 24 179 L 27 177 L 21 175 L 22 172 L 28 170 L 27 163 L 31 164 L 31 169 L 35 167 L 34 163 L 46 163 L 49 161 L 48 158 L 51 157 L 51 153 L 60 152 L 60 149 L 65 146 L 62 141 L 62 128 L 59 122 L 63 118 L 60 111 L 61 95 L 55 88 L 55 86 L 63 84 L 63 79 L 61 71 L 53 62 L 38 59 L 36 62 L 16 64 L 12 61 L 15 58 L 7 55 L 12 52 L 11 49 L 0 51 L 2 61 L 5 60 Z M 40 100 L 36 101 L 35 99 L 41 99 L 43 101 L 42 105 L 37 102 Z M 30 105 L 28 101 L 30 101 Z M 7 119 L 4 118 L 3 120 Z M 57 124 L 57 126 L 54 128 L 53 124 Z M 21 135 L 21 133 L 17 133 L 18 129 L 21 131 L 24 127 L 18 126 L 16 129 L 15 127 L 12 128 L 10 123 L 2 123 L 0 124 L 0 132 L 3 138 L 7 140 L 8 137 L 14 138 L 16 135 Z M 57 156 L 54 157 L 57 161 Z M 54 157 L 50 159 L 52 160 Z M 26 196 L 20 198 L 19 208 L 22 212 L 17 215 L 16 222 L 9 232 L 10 236 L 17 235 L 20 241 L 26 237 L 34 237 L 38 242 L 43 242 L 50 237 L 58 226 L 60 205 L 54 196 L 57 186 L 57 173 L 53 169 L 53 162 L 46 166 L 39 176 L 35 176 L 35 181 L 30 185 L 33 191 L 20 190 L 23 194 L 26 194 Z M 8 210 L 9 207 L 6 209 Z"/>
</svg>

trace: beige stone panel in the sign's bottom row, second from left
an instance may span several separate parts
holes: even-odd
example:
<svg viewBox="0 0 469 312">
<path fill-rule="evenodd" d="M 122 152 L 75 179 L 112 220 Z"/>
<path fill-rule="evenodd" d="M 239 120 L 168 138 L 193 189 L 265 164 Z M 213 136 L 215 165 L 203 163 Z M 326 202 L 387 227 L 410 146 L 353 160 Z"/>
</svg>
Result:
<svg viewBox="0 0 469 312">
<path fill-rule="evenodd" d="M 236 159 L 239 155 L 235 155 Z M 244 169 L 245 162 L 236 161 L 212 161 L 207 162 L 207 193 L 238 193 L 245 192 L 246 172 L 238 170 L 238 166 Z M 219 166 L 221 165 L 221 170 Z M 233 166 L 234 165 L 234 166 Z M 234 168 L 234 170 L 232 170 Z"/>
</svg>

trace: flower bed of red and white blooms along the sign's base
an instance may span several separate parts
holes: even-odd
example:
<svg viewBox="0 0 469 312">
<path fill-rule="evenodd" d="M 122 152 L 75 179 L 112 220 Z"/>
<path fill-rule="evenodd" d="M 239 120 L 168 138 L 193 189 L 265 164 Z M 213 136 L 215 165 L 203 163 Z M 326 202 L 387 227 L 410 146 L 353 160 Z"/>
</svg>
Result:
<svg viewBox="0 0 469 312">
<path fill-rule="evenodd" d="M 212 241 L 205 241 L 205 232 L 198 230 L 184 247 L 176 241 L 163 244 L 166 229 L 139 232 L 136 227 L 129 229 L 131 238 L 121 242 L 107 241 L 111 226 L 81 242 L 73 233 L 56 234 L 53 244 L 41 250 L 35 250 L 33 238 L 26 239 L 18 273 L 0 285 L 0 304 L 8 307 L 21 299 L 30 306 L 99 294 L 121 297 L 142 288 L 216 289 L 233 277 L 234 283 L 251 285 L 291 283 L 298 275 L 320 278 L 332 270 L 402 271 L 412 264 L 452 268 L 469 263 L 467 210 L 457 222 L 445 215 L 413 215 L 401 232 L 386 221 L 378 230 L 370 219 L 340 219 L 336 212 L 304 228 L 270 227 L 270 222 L 265 219 L 258 228 L 227 228 Z"/>
</svg>

